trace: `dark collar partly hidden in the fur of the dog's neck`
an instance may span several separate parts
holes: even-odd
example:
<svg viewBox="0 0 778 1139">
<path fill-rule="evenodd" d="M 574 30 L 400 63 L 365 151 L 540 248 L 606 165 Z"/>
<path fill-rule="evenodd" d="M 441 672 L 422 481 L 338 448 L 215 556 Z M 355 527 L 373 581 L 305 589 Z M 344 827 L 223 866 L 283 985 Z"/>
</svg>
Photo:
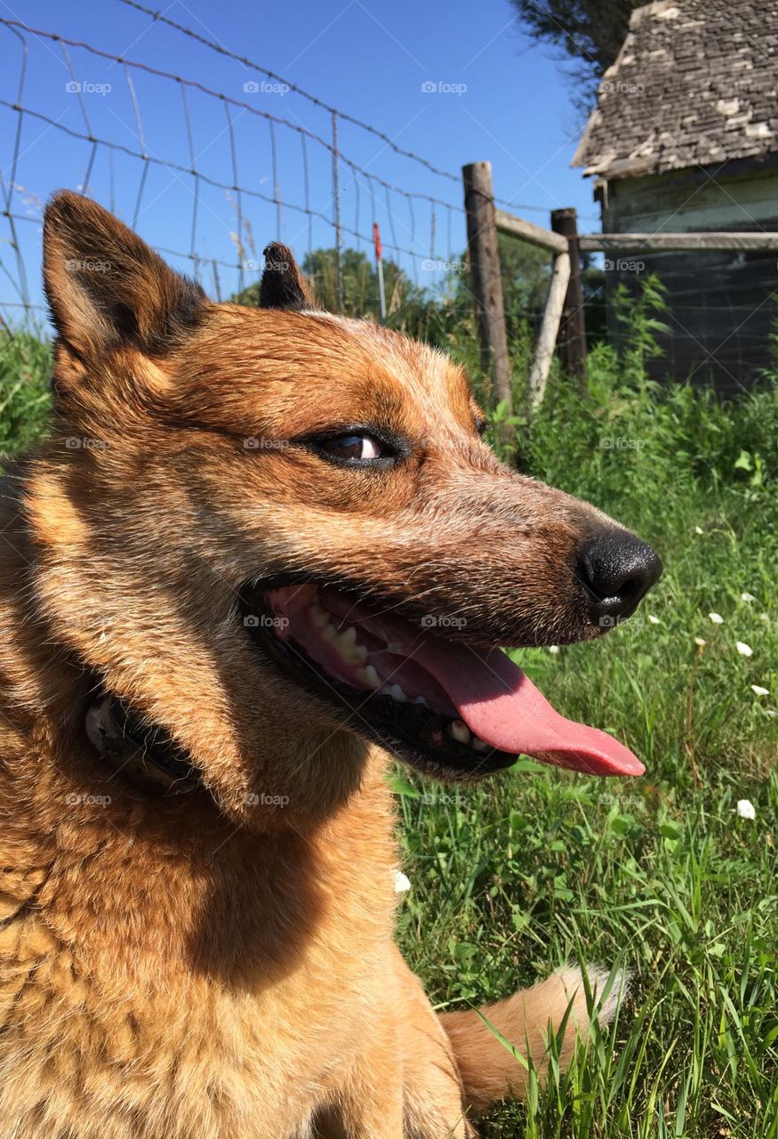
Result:
<svg viewBox="0 0 778 1139">
<path fill-rule="evenodd" d="M 169 732 L 143 721 L 113 693 L 102 693 L 86 710 L 86 735 L 115 775 L 147 792 L 185 795 L 202 786 L 199 768 Z"/>
</svg>

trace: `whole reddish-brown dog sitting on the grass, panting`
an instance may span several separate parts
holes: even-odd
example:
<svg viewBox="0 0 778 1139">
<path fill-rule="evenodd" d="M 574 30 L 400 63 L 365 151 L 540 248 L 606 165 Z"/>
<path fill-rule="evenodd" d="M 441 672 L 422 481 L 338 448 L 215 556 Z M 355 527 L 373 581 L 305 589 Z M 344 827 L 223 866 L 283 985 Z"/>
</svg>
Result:
<svg viewBox="0 0 778 1139">
<path fill-rule="evenodd" d="M 595 637 L 659 562 L 282 247 L 250 310 L 74 194 L 44 245 L 55 419 L 2 515 L 0 1134 L 470 1136 L 524 1068 L 394 948 L 388 753 L 639 773 L 495 646 Z M 541 1068 L 569 1002 L 569 1056 L 578 972 L 486 1016 Z"/>
</svg>

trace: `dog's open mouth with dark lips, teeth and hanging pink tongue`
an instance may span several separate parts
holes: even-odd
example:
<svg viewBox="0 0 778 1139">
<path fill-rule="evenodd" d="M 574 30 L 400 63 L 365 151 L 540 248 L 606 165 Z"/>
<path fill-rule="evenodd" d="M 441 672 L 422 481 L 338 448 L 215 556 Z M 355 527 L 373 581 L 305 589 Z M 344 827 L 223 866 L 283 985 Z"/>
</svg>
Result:
<svg viewBox="0 0 778 1139">
<path fill-rule="evenodd" d="M 498 648 L 485 649 L 330 585 L 254 585 L 243 625 L 357 735 L 425 773 L 474 778 L 519 754 L 590 775 L 638 776 L 612 736 L 565 720 Z"/>
</svg>

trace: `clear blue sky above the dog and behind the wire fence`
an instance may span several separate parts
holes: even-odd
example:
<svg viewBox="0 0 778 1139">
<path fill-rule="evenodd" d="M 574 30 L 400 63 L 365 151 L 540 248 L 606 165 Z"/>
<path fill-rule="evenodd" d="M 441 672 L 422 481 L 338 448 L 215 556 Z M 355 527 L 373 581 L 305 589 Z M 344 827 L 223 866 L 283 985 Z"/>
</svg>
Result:
<svg viewBox="0 0 778 1139">
<path fill-rule="evenodd" d="M 300 0 L 287 6 L 151 0 L 149 6 L 159 6 L 171 19 L 370 123 L 439 170 L 458 175 L 464 163 L 490 159 L 495 192 L 514 203 L 520 215 L 548 224 L 549 210 L 573 205 L 582 215 L 582 229 L 598 228 L 591 186 L 569 165 L 580 128 L 570 80 L 549 50 L 531 47 L 521 34 L 507 0 L 478 5 L 396 0 L 391 6 L 376 0 L 325 5 Z M 280 237 L 300 257 L 309 247 L 334 243 L 331 156 L 315 138 L 306 138 L 306 191 L 304 142 L 292 130 L 303 128 L 331 141 L 326 110 L 119 0 L 69 5 L 0 0 L 0 16 L 172 73 L 234 100 L 225 103 L 188 85 L 184 104 L 182 84 L 175 80 L 135 67 L 125 69 L 74 46 L 67 48 L 68 65 L 56 41 L 22 33 L 27 44 L 22 105 L 35 114 L 23 118 L 14 172 L 18 116 L 0 106 L 0 169 L 3 191 L 14 175 L 11 205 L 23 219 L 16 222 L 16 231 L 34 303 L 41 301 L 42 204 L 58 187 L 83 187 L 93 150 L 92 144 L 74 134 L 101 140 L 94 150 L 89 191 L 130 223 L 134 221 L 155 246 L 173 251 L 169 260 L 188 272 L 197 271 L 212 295 L 218 289 L 227 296 L 237 287 L 241 260 L 243 281 L 254 279 L 262 248 L 271 238 Z M 0 25 L 0 99 L 15 104 L 22 42 Z M 74 83 L 80 91 L 73 90 Z M 436 89 L 429 90 L 430 85 Z M 271 128 L 256 112 L 291 125 Z M 355 177 L 345 163 L 340 166 L 341 223 L 363 235 L 355 238 L 345 232 L 344 243 L 370 252 L 369 236 L 378 220 L 384 246 L 395 244 L 406 251 L 386 248 L 386 255 L 396 256 L 420 284 L 433 284 L 441 262 L 457 257 L 465 244 L 464 218 L 457 208 L 461 185 L 402 157 L 347 122 L 341 121 L 338 129 L 346 158 L 394 187 L 440 198 L 454 207 L 433 207 L 421 198 L 408 202 L 397 190 L 387 196 L 383 187 Z M 111 158 L 104 142 L 125 150 L 114 150 Z M 144 163 L 127 150 L 146 154 L 150 161 Z M 192 151 L 194 167 L 202 175 L 199 180 L 188 172 Z M 242 192 L 208 185 L 207 179 L 226 187 L 238 185 Z M 284 203 L 280 210 L 274 196 Z M 313 218 L 293 208 L 306 202 Z M 237 240 L 239 220 L 242 248 Z M 3 218 L 3 305 L 19 300 L 9 279 L 19 285 L 10 237 Z M 196 262 L 188 256 L 192 252 Z M 1 311 L 7 317 L 14 313 L 13 308 Z"/>
</svg>

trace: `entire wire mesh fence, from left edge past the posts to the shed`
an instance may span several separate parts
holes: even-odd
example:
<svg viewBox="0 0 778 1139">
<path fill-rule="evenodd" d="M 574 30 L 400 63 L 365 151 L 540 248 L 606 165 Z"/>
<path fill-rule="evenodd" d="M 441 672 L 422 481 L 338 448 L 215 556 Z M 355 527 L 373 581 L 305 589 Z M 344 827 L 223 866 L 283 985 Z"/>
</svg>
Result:
<svg viewBox="0 0 778 1139">
<path fill-rule="evenodd" d="M 167 13 L 140 0 L 115 5 L 132 22 L 134 47 L 107 50 L 0 16 L 0 316 L 7 322 L 45 312 L 41 224 L 45 198 L 60 186 L 92 195 L 218 301 L 251 295 L 262 249 L 276 239 L 291 246 L 328 306 L 376 316 L 378 223 L 390 316 L 414 298 L 440 295 L 452 277 L 463 303 L 450 320 L 472 314 L 461 173 L 403 146 L 407 124 L 392 124 L 389 134 Z M 155 35 L 143 39 L 151 27 Z M 547 224 L 545 206 L 495 203 Z M 579 218 L 585 229 L 596 221 Z M 514 355 L 522 338 L 537 339 L 551 279 L 551 259 L 540 264 L 528 256 L 500 252 Z M 657 369 L 734 387 L 769 361 L 769 256 L 719 259 L 717 273 L 697 272 L 697 255 L 648 260 L 670 302 L 671 334 Z M 640 255 L 640 264 L 648 260 Z M 610 272 L 602 254 L 585 263 L 589 345 L 618 341 L 616 277 L 629 287 L 640 281 Z M 428 326 L 400 327 L 430 334 Z"/>
</svg>

